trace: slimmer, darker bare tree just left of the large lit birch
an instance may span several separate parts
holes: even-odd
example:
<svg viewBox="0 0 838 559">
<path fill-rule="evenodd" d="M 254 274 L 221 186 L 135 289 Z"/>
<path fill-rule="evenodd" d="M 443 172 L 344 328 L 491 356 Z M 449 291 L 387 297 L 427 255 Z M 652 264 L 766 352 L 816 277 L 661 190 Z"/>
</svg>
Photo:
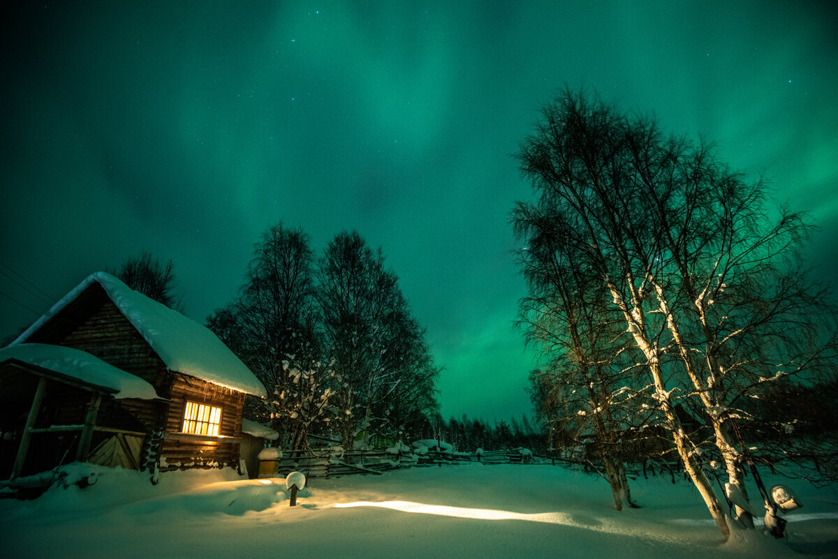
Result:
<svg viewBox="0 0 838 559">
<path fill-rule="evenodd" d="M 563 446 L 597 450 L 617 510 L 634 506 L 621 452 L 628 425 L 613 395 L 629 382 L 619 370 L 627 336 L 604 304 L 608 292 L 595 271 L 574 261 L 568 246 L 555 243 L 566 237 L 564 223 L 527 209 L 515 213 L 515 222 L 526 224 L 529 233 L 520 264 L 530 295 L 521 301 L 520 326 L 547 362 L 530 378 L 535 408 Z M 587 453 L 575 459 L 592 465 Z"/>
</svg>

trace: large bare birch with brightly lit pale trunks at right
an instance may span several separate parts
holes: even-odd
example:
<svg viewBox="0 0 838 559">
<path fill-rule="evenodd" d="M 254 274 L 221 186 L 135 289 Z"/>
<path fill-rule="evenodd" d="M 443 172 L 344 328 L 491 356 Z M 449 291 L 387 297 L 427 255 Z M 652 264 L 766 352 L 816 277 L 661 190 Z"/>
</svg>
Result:
<svg viewBox="0 0 838 559">
<path fill-rule="evenodd" d="M 607 293 L 648 375 L 646 405 L 660 412 L 727 538 L 702 456 L 715 455 L 728 490 L 747 500 L 736 426 L 751 416 L 742 402 L 784 377 L 835 375 L 834 310 L 795 262 L 809 226 L 769 212 L 764 184 L 731 172 L 707 146 L 569 91 L 542 111 L 520 162 L 538 197 L 518 204 L 516 229 L 561 246 L 566 265 L 546 273 L 590 269 Z M 680 412 L 710 437 L 689 433 Z M 737 517 L 753 526 L 744 510 Z"/>
</svg>

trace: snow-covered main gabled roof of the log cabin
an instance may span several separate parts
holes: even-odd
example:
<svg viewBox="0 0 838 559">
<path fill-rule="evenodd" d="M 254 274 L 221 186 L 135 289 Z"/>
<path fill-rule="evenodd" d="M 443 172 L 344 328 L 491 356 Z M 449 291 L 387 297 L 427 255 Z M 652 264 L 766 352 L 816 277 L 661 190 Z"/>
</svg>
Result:
<svg viewBox="0 0 838 559">
<path fill-rule="evenodd" d="M 59 300 L 12 345 L 22 344 L 54 315 L 93 283 L 105 290 L 114 304 L 142 335 L 171 371 L 182 372 L 222 387 L 265 397 L 265 387 L 241 359 L 208 328 L 132 290 L 111 274 L 96 272 Z"/>
</svg>

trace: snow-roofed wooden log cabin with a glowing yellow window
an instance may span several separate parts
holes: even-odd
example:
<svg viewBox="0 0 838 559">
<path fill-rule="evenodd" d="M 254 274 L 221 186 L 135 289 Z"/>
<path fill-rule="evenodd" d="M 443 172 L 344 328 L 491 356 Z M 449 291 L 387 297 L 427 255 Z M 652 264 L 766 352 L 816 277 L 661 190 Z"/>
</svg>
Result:
<svg viewBox="0 0 838 559">
<path fill-rule="evenodd" d="M 0 479 L 73 461 L 241 472 L 249 396 L 265 387 L 211 331 L 98 272 L 0 349 Z"/>
</svg>

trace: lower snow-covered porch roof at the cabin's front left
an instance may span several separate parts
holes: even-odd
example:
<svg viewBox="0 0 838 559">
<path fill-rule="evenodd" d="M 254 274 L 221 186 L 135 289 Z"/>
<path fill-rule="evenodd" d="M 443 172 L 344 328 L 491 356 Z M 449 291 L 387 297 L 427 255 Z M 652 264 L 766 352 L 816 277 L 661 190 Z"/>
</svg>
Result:
<svg viewBox="0 0 838 559">
<path fill-rule="evenodd" d="M 88 384 L 116 391 L 116 398 L 156 398 L 154 387 L 130 372 L 73 347 L 50 344 L 18 344 L 0 349 L 0 362 L 15 359 L 36 367 L 59 372 Z"/>
</svg>

